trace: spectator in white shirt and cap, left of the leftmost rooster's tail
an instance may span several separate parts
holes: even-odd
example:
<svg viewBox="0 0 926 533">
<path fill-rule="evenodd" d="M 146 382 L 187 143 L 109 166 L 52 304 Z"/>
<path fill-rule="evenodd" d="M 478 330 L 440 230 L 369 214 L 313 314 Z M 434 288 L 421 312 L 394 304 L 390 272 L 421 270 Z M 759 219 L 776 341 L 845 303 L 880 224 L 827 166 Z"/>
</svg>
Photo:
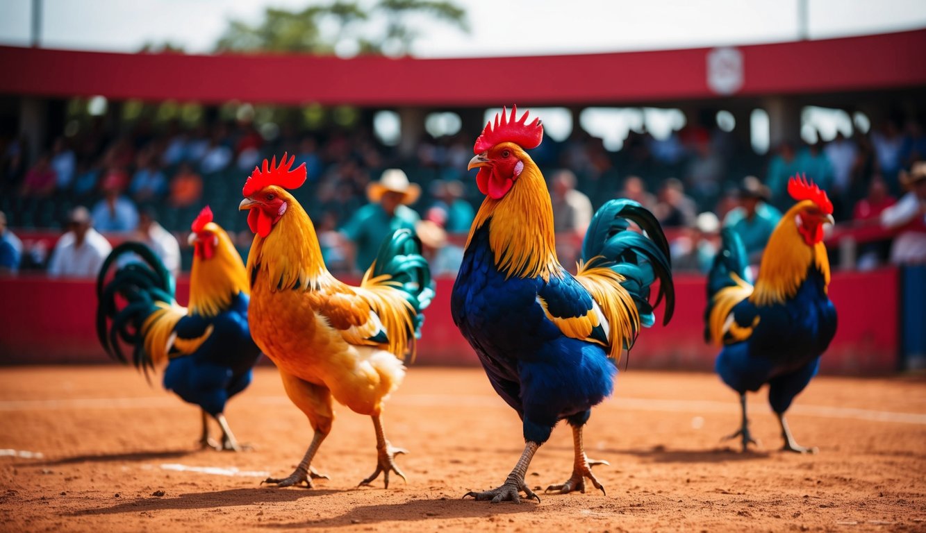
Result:
<svg viewBox="0 0 926 533">
<path fill-rule="evenodd" d="M 95 278 L 112 252 L 112 246 L 93 228 L 93 219 L 86 207 L 70 212 L 68 231 L 58 239 L 48 275 L 52 278 Z"/>
</svg>

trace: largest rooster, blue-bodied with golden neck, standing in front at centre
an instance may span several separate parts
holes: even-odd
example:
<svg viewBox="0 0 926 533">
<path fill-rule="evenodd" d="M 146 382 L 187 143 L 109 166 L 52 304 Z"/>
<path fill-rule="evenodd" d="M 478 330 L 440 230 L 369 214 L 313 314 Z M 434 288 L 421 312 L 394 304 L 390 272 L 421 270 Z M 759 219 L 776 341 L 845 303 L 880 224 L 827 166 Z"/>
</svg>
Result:
<svg viewBox="0 0 926 533">
<path fill-rule="evenodd" d="M 664 321 L 674 306 L 669 246 L 653 215 L 630 200 L 611 200 L 595 213 L 575 276 L 557 261 L 553 208 L 544 176 L 525 150 L 540 145 L 540 119 L 527 123 L 503 109 L 482 130 L 469 161 L 486 195 L 469 230 L 451 298 L 457 328 L 479 355 L 494 390 L 521 418 L 524 452 L 505 483 L 466 496 L 492 502 L 540 498 L 524 482 L 537 449 L 561 419 L 572 427 L 572 476 L 547 490 L 585 490 L 594 477 L 582 447 L 591 408 L 614 388 L 617 361 L 641 326 Z M 630 229 L 632 221 L 649 235 Z M 659 279 L 656 304 L 651 285 Z"/>
</svg>

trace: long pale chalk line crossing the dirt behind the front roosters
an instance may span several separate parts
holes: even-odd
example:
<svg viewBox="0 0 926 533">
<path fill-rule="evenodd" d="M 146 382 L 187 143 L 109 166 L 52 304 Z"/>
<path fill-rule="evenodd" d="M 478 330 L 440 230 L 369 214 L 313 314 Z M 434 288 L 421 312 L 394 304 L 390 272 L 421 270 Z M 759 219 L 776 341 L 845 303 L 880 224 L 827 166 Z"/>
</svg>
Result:
<svg viewBox="0 0 926 533">
<path fill-rule="evenodd" d="M 261 403 L 265 405 L 289 405 L 285 396 L 244 397 L 242 402 Z M 476 394 L 398 394 L 390 400 L 394 405 L 423 405 L 439 407 L 479 407 L 502 408 L 508 406 L 494 396 Z M 149 409 L 156 407 L 176 407 L 181 405 L 177 398 L 171 396 L 144 396 L 139 398 L 90 398 L 62 400 L 6 400 L 0 402 L 3 411 L 48 411 L 63 409 Z M 656 398 L 617 397 L 607 400 L 603 407 L 619 411 L 650 411 L 660 413 L 738 413 L 735 402 L 717 402 L 709 400 L 669 400 Z M 749 404 L 752 412 L 770 412 L 768 403 L 756 401 Z M 845 418 L 870 422 L 893 422 L 898 424 L 926 425 L 926 414 L 898 413 L 893 411 L 875 411 L 854 407 L 831 407 L 826 405 L 805 405 L 795 403 L 788 411 L 790 415 L 819 416 L 823 418 Z"/>
</svg>

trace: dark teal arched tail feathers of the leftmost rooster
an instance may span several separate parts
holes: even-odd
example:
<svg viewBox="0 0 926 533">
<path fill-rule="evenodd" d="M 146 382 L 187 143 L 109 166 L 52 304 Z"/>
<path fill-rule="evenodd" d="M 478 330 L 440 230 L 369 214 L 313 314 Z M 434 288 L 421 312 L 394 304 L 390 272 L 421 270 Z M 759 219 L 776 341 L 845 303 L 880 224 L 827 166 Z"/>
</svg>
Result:
<svg viewBox="0 0 926 533">
<path fill-rule="evenodd" d="M 119 266 L 126 260 L 127 264 Z M 114 266 L 112 279 L 106 281 Z M 96 336 L 106 353 L 128 363 L 121 341 L 131 345 L 134 366 L 145 370 L 152 366 L 144 350 L 142 325 L 157 310 L 156 303 L 171 304 L 174 294 L 173 277 L 150 248 L 139 242 L 119 244 L 106 257 L 96 279 Z"/>
</svg>

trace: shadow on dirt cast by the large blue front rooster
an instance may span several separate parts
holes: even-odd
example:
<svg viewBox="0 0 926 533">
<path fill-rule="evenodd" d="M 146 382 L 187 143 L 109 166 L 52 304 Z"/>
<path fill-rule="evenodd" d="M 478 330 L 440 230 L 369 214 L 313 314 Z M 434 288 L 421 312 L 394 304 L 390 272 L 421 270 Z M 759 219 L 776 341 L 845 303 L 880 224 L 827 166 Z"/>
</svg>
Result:
<svg viewBox="0 0 926 533">
<path fill-rule="evenodd" d="M 543 496 L 541 496 L 543 499 Z M 493 522 L 498 519 L 490 517 L 504 514 L 534 513 L 540 510 L 537 502 L 524 502 L 520 504 L 501 502 L 475 502 L 470 498 L 466 500 L 437 498 L 433 500 L 411 500 L 402 503 L 382 503 L 379 505 L 361 505 L 340 516 L 324 518 L 321 520 L 307 520 L 302 522 L 265 524 L 263 527 L 275 529 L 301 529 L 306 527 L 349 527 L 357 525 L 378 524 L 380 522 L 405 521 L 417 522 L 419 520 L 440 520 L 445 518 L 489 518 Z M 500 518 L 501 523 L 507 523 L 507 518 Z M 422 527 L 422 530 L 427 528 Z"/>
</svg>

